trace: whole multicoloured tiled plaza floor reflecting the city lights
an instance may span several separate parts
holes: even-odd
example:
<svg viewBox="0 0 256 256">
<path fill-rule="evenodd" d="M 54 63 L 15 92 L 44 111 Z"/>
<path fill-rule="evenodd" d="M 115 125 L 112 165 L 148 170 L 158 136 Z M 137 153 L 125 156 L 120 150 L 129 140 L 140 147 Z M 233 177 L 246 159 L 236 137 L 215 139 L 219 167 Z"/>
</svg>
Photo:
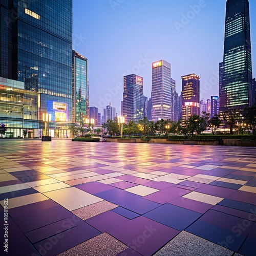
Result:
<svg viewBox="0 0 256 256">
<path fill-rule="evenodd" d="M 10 255 L 256 255 L 255 147 L 0 140 L 0 197 Z"/>
</svg>

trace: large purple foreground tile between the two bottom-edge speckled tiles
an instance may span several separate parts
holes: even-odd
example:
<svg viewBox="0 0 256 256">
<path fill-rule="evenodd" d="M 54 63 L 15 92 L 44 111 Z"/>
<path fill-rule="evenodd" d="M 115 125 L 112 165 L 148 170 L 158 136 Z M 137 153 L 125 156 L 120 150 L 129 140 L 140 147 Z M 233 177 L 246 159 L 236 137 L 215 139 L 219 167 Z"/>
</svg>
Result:
<svg viewBox="0 0 256 256">
<path fill-rule="evenodd" d="M 138 217 L 121 223 L 110 234 L 142 255 L 152 255 L 179 233 L 153 220 Z"/>
</svg>

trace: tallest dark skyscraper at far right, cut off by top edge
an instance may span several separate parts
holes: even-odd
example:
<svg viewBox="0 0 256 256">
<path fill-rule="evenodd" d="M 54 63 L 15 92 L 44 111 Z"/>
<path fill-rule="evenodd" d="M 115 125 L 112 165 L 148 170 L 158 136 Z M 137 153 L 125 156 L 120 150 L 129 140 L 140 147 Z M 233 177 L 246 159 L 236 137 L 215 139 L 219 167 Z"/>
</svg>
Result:
<svg viewBox="0 0 256 256">
<path fill-rule="evenodd" d="M 244 109 L 252 101 L 248 0 L 227 0 L 220 111 Z"/>
</svg>

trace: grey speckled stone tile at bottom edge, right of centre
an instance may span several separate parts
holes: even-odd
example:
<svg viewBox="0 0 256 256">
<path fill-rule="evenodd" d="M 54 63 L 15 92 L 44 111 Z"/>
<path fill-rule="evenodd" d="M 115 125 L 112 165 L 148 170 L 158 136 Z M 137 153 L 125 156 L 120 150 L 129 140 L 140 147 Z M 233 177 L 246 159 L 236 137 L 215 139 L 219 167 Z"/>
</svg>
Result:
<svg viewBox="0 0 256 256">
<path fill-rule="evenodd" d="M 173 240 L 154 254 L 154 256 L 232 256 L 233 251 L 209 242 L 194 234 L 182 231 Z"/>
</svg>

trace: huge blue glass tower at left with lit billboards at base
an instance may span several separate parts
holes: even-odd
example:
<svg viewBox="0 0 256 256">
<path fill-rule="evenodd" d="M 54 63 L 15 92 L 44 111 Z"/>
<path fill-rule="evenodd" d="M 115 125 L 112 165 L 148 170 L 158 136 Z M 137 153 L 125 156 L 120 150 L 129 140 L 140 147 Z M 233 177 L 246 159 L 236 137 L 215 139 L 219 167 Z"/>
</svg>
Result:
<svg viewBox="0 0 256 256">
<path fill-rule="evenodd" d="M 1 1 L 0 76 L 40 93 L 50 135 L 69 137 L 72 122 L 72 0 Z"/>
</svg>

